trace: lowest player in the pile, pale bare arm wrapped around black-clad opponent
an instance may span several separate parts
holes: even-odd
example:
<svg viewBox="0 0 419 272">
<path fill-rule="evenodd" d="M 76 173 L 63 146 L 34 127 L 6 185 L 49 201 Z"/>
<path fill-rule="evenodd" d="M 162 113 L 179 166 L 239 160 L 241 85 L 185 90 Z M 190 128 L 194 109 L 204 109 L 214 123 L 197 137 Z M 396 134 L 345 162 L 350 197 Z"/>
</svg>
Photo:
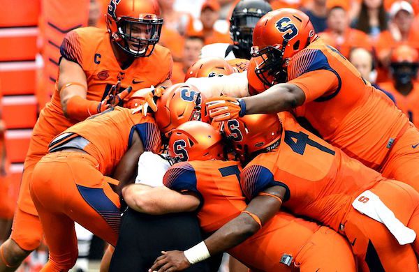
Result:
<svg viewBox="0 0 419 272">
<path fill-rule="evenodd" d="M 280 126 L 271 125 L 275 124 L 265 123 L 263 127 L 270 128 L 272 137 L 278 136 Z M 166 187 L 127 186 L 123 189 L 126 203 L 142 213 L 196 211 L 206 234 L 230 225 L 228 222 L 239 216 L 240 225 L 224 236 L 226 243 L 237 246 L 225 250 L 230 249 L 230 255 L 256 271 L 292 271 L 297 266 L 303 271 L 355 271 L 348 243 L 337 232 L 279 213 L 278 202 L 269 196 L 257 197 L 247 205 L 240 190 L 241 167 L 235 161 L 224 160 L 221 142 L 221 135 L 211 125 L 200 121 L 183 123 L 170 136 L 169 155 L 181 162 L 166 172 Z M 260 213 L 263 216 L 255 221 L 255 214 Z M 267 218 L 272 220 L 268 222 Z M 181 268 L 202 260 L 196 259 L 197 251 L 205 248 L 201 243 L 185 251 L 187 259 Z M 213 248 L 206 251 L 207 257 L 225 250 Z M 179 269 L 174 268 L 159 261 L 152 266 L 155 271 Z"/>
</svg>

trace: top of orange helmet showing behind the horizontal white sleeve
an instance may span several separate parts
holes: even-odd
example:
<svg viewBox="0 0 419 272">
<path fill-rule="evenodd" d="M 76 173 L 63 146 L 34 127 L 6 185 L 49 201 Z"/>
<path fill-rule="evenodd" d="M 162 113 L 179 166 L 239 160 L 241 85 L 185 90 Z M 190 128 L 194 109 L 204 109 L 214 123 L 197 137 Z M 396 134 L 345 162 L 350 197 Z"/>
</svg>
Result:
<svg viewBox="0 0 419 272">
<path fill-rule="evenodd" d="M 185 75 L 185 81 L 189 77 L 222 77 L 223 75 L 231 75 L 234 72 L 233 66 L 230 66 L 226 60 L 209 56 L 199 59 L 189 67 Z"/>
</svg>

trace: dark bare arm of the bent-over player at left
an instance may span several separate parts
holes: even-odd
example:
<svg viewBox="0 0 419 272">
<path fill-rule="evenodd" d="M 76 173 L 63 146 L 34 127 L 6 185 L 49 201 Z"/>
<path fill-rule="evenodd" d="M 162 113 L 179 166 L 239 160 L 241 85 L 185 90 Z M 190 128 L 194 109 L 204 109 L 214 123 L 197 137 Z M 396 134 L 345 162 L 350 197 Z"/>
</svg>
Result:
<svg viewBox="0 0 419 272">
<path fill-rule="evenodd" d="M 138 133 L 133 133 L 131 147 L 126 151 L 124 156 L 122 156 L 122 159 L 119 161 L 113 174 L 114 179 L 119 181 L 117 186 L 118 195 L 121 195 L 121 190 L 124 186 L 135 180 L 138 160 L 143 152 L 144 146 L 142 145 L 140 135 L 138 135 Z"/>
</svg>

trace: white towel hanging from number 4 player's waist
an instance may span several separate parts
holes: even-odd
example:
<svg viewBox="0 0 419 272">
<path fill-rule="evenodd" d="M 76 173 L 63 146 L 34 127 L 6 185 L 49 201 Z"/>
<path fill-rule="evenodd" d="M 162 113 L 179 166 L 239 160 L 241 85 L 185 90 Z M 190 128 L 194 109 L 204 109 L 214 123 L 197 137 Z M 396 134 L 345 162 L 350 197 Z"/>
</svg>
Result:
<svg viewBox="0 0 419 272">
<path fill-rule="evenodd" d="M 393 236 L 397 239 L 400 245 L 413 243 L 416 239 L 416 232 L 413 229 L 406 227 L 400 220 L 398 220 L 390 209 L 381 201 L 378 195 L 374 192 L 366 190 L 358 195 L 352 202 L 353 208 L 360 213 L 369 216 L 374 220 L 381 222 L 388 228 Z"/>
</svg>

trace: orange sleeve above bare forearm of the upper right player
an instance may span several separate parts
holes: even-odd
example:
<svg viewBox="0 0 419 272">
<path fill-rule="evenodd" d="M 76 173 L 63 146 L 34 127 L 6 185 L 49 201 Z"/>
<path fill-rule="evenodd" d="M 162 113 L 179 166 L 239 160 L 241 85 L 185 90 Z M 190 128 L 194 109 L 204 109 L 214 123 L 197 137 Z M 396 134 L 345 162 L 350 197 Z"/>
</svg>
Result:
<svg viewBox="0 0 419 272">
<path fill-rule="evenodd" d="M 330 70 L 304 73 L 287 83 L 294 84 L 304 91 L 306 97 L 304 103 L 321 98 L 321 96 L 330 96 L 339 89 L 339 79 Z"/>
</svg>

